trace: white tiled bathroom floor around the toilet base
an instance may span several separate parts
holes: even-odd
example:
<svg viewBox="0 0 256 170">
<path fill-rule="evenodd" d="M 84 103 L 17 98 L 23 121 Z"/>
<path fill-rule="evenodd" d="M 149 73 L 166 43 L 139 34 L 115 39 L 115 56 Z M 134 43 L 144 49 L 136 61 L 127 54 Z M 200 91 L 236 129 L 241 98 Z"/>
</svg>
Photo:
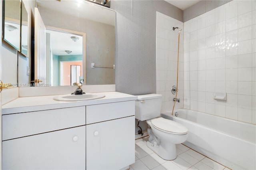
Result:
<svg viewBox="0 0 256 170">
<path fill-rule="evenodd" d="M 164 160 L 147 147 L 147 140 L 148 137 L 135 140 L 135 163 L 130 170 L 229 170 L 183 144 L 176 144 L 175 160 Z"/>
</svg>

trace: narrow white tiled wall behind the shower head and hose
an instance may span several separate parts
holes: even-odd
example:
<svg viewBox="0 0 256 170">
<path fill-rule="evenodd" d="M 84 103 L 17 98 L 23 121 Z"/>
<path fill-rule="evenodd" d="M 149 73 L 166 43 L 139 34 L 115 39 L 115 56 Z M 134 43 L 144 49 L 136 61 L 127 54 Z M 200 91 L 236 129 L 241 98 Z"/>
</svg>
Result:
<svg viewBox="0 0 256 170">
<path fill-rule="evenodd" d="M 175 97 L 171 88 L 176 85 L 178 60 L 178 30 L 180 34 L 178 96 L 180 103 L 176 102 L 175 109 L 183 108 L 183 22 L 156 12 L 156 93 L 162 95 L 161 111 L 170 111 Z"/>
</svg>

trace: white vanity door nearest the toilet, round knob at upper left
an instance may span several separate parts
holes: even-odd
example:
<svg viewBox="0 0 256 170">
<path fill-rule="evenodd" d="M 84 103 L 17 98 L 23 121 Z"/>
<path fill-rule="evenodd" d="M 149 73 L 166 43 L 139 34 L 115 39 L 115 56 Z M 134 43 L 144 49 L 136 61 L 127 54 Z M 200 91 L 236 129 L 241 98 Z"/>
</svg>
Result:
<svg viewBox="0 0 256 170">
<path fill-rule="evenodd" d="M 86 125 L 86 169 L 118 170 L 135 160 L 135 117 Z"/>
</svg>

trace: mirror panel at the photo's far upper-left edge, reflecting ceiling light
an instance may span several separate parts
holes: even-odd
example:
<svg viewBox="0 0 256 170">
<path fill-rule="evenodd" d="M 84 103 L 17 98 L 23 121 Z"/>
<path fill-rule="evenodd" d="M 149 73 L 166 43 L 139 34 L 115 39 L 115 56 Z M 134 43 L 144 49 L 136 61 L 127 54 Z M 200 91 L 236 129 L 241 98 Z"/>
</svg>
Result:
<svg viewBox="0 0 256 170">
<path fill-rule="evenodd" d="M 20 51 L 20 0 L 3 1 L 3 38 L 15 49 Z"/>
</svg>

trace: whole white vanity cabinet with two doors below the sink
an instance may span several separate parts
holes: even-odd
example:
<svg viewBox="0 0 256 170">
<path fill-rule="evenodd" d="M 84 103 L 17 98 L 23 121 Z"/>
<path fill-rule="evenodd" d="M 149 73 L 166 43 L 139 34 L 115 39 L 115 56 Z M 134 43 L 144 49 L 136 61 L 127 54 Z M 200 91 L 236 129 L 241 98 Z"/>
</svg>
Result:
<svg viewBox="0 0 256 170">
<path fill-rule="evenodd" d="M 133 164 L 136 97 L 109 93 L 105 100 L 20 107 L 23 113 L 5 108 L 2 169 L 118 170 Z"/>
</svg>

